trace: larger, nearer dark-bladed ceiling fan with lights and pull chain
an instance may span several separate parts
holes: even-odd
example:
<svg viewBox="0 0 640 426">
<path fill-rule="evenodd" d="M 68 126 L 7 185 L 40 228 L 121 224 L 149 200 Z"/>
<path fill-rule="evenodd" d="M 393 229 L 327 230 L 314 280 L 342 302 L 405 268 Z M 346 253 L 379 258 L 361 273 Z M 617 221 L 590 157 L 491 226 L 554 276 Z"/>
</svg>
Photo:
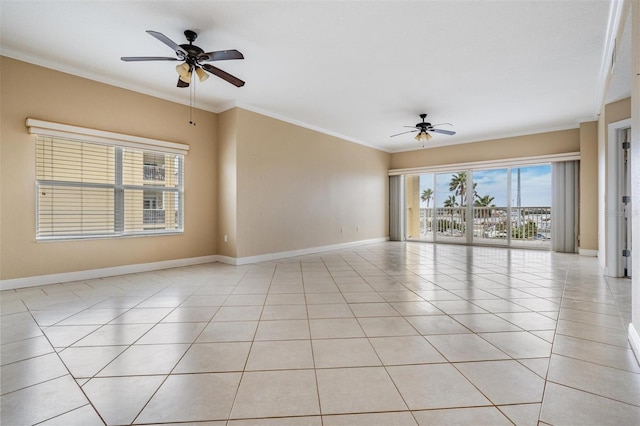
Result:
<svg viewBox="0 0 640 426">
<path fill-rule="evenodd" d="M 216 52 L 205 52 L 200 47 L 193 44 L 198 37 L 194 31 L 186 30 L 184 32 L 185 37 L 189 44 L 177 44 L 166 35 L 157 31 L 148 30 L 151 36 L 157 38 L 167 46 L 169 46 L 176 53 L 176 57 L 164 57 L 164 56 L 124 56 L 122 59 L 125 62 L 137 62 L 137 61 L 181 61 L 182 63 L 176 67 L 176 71 L 180 76 L 178 78 L 178 87 L 189 87 L 191 83 L 191 77 L 195 72 L 200 81 L 205 81 L 209 78 L 209 74 L 220 77 L 221 79 L 233 84 L 236 87 L 244 86 L 244 81 L 229 74 L 220 68 L 213 65 L 206 64 L 204 62 L 212 61 L 226 61 L 229 59 L 244 59 L 242 53 L 235 49 L 232 50 L 219 50 Z"/>
</svg>

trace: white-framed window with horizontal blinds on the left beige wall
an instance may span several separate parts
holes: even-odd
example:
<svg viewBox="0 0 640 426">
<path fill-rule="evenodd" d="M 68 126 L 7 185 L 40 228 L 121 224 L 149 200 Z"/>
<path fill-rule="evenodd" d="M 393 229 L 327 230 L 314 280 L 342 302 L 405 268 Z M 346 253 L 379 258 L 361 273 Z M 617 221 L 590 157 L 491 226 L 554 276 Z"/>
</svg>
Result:
<svg viewBox="0 0 640 426">
<path fill-rule="evenodd" d="M 36 134 L 37 239 L 183 232 L 184 154 L 71 136 Z"/>
</svg>

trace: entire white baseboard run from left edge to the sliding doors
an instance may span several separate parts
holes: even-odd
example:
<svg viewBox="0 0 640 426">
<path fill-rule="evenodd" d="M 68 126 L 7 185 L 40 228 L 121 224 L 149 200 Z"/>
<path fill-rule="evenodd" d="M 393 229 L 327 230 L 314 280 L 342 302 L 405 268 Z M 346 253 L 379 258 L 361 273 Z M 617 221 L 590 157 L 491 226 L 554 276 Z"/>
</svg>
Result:
<svg viewBox="0 0 640 426">
<path fill-rule="evenodd" d="M 135 274 L 138 272 L 157 271 L 160 269 L 179 268 L 182 266 L 199 265 L 202 263 L 221 262 L 229 265 L 247 265 L 249 263 L 265 262 L 269 260 L 283 259 L 285 257 L 304 256 L 307 254 L 321 253 L 330 250 L 341 250 L 365 244 L 375 244 L 388 241 L 389 238 L 374 238 L 370 240 L 354 241 L 350 243 L 333 244 L 329 246 L 311 247 L 307 249 L 283 251 L 279 253 L 261 254 L 248 257 L 229 256 L 201 256 L 187 259 L 165 260 L 162 262 L 140 263 L 135 265 L 114 266 L 110 268 L 89 269 L 86 271 L 65 272 L 61 274 L 38 275 L 35 277 L 12 278 L 0 280 L 0 290 L 13 290 L 17 288 L 35 287 L 39 285 L 58 284 L 71 281 L 91 280 L 96 278 L 111 277 L 115 275 Z"/>
</svg>

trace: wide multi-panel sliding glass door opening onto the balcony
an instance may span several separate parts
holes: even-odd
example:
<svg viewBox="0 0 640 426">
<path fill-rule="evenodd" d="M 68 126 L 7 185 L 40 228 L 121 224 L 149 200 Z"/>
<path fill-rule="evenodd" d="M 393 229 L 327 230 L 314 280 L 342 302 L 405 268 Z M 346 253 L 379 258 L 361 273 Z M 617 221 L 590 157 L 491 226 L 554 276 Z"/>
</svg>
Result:
<svg viewBox="0 0 640 426">
<path fill-rule="evenodd" d="M 405 177 L 408 240 L 551 248 L 551 166 Z"/>
</svg>

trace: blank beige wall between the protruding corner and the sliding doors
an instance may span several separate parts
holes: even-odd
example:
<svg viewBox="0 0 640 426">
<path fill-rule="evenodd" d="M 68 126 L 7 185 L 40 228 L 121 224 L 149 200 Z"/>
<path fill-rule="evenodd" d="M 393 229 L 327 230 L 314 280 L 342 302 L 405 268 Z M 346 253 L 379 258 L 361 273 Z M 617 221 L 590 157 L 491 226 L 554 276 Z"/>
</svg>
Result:
<svg viewBox="0 0 640 426">
<path fill-rule="evenodd" d="M 237 257 L 389 235 L 388 153 L 235 114 Z"/>
</svg>

